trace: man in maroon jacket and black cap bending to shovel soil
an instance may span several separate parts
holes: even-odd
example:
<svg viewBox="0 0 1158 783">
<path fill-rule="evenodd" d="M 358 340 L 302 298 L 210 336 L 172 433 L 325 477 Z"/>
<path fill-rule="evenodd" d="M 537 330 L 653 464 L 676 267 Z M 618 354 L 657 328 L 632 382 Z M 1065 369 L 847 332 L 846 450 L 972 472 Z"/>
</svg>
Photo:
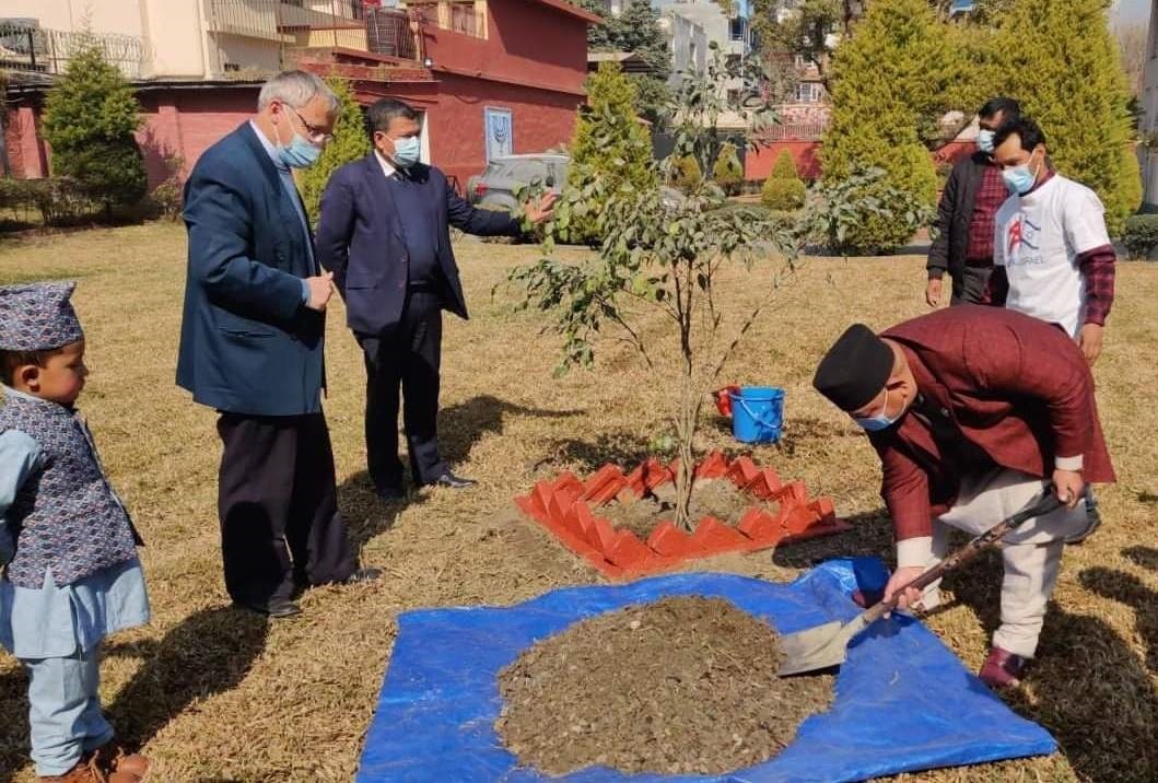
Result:
<svg viewBox="0 0 1158 783">
<path fill-rule="evenodd" d="M 1051 480 L 1062 502 L 1004 536 L 1002 622 L 980 676 L 1019 685 L 1033 658 L 1064 540 L 1080 534 L 1086 482 L 1113 482 L 1090 367 L 1055 325 L 974 305 L 938 310 L 879 337 L 856 324 L 813 386 L 868 432 L 884 471 L 897 568 L 885 600 L 933 609 L 938 583 L 901 590 L 947 554 L 948 528 L 979 535 Z"/>
</svg>

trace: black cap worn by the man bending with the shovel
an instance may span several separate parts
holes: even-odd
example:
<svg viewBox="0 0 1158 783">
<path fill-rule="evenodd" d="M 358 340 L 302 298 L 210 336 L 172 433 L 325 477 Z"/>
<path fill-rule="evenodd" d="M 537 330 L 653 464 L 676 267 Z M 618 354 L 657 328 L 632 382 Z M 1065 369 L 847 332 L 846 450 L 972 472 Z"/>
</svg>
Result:
<svg viewBox="0 0 1158 783">
<path fill-rule="evenodd" d="M 816 367 L 813 387 L 852 412 L 880 394 L 893 374 L 893 349 L 863 323 L 849 327 Z"/>
</svg>

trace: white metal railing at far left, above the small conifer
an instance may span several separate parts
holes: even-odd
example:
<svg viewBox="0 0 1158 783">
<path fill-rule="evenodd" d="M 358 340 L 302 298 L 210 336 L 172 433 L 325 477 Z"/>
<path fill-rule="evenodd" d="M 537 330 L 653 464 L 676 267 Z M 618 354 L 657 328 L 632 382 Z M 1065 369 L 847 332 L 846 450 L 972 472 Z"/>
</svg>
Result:
<svg viewBox="0 0 1158 783">
<path fill-rule="evenodd" d="M 0 69 L 60 74 L 81 49 L 96 45 L 108 63 L 129 79 L 145 67 L 145 42 L 104 32 L 66 32 L 27 25 L 0 25 Z"/>
</svg>

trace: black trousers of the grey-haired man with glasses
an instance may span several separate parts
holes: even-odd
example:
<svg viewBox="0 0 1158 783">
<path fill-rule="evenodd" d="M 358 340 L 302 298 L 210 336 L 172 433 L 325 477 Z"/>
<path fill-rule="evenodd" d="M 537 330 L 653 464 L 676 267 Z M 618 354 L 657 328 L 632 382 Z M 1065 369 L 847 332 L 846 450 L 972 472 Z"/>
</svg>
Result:
<svg viewBox="0 0 1158 783">
<path fill-rule="evenodd" d="M 342 581 L 357 558 L 338 513 L 322 414 L 221 414 L 218 513 L 225 586 L 242 603 L 288 600 L 296 587 Z"/>
</svg>

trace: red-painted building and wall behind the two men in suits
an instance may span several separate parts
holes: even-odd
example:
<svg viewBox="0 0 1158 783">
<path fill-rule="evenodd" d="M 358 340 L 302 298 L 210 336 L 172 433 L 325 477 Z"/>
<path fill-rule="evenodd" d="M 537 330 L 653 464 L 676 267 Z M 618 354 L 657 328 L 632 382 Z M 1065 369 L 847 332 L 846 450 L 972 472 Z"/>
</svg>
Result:
<svg viewBox="0 0 1158 783">
<path fill-rule="evenodd" d="M 490 155 L 543 152 L 570 140 L 586 100 L 587 24 L 596 16 L 565 0 L 435 0 L 411 2 L 405 12 L 372 5 L 353 6 L 351 19 L 332 24 L 332 38 L 324 24 L 305 32 L 300 23 L 280 24 L 278 34 L 298 32 L 303 44 L 284 46 L 281 66 L 346 78 L 362 104 L 396 97 L 423 111 L 424 159 L 460 182 L 482 171 Z M 393 35 L 388 45 L 376 45 L 383 22 Z M 135 80 L 145 120 L 138 140 L 151 185 L 167 176 L 166 159 L 181 156 L 188 170 L 254 114 L 264 79 L 240 76 Z M 9 88 L 5 146 L 14 176 L 42 177 L 51 169 L 38 132 L 50 83 L 37 74 Z"/>
</svg>

